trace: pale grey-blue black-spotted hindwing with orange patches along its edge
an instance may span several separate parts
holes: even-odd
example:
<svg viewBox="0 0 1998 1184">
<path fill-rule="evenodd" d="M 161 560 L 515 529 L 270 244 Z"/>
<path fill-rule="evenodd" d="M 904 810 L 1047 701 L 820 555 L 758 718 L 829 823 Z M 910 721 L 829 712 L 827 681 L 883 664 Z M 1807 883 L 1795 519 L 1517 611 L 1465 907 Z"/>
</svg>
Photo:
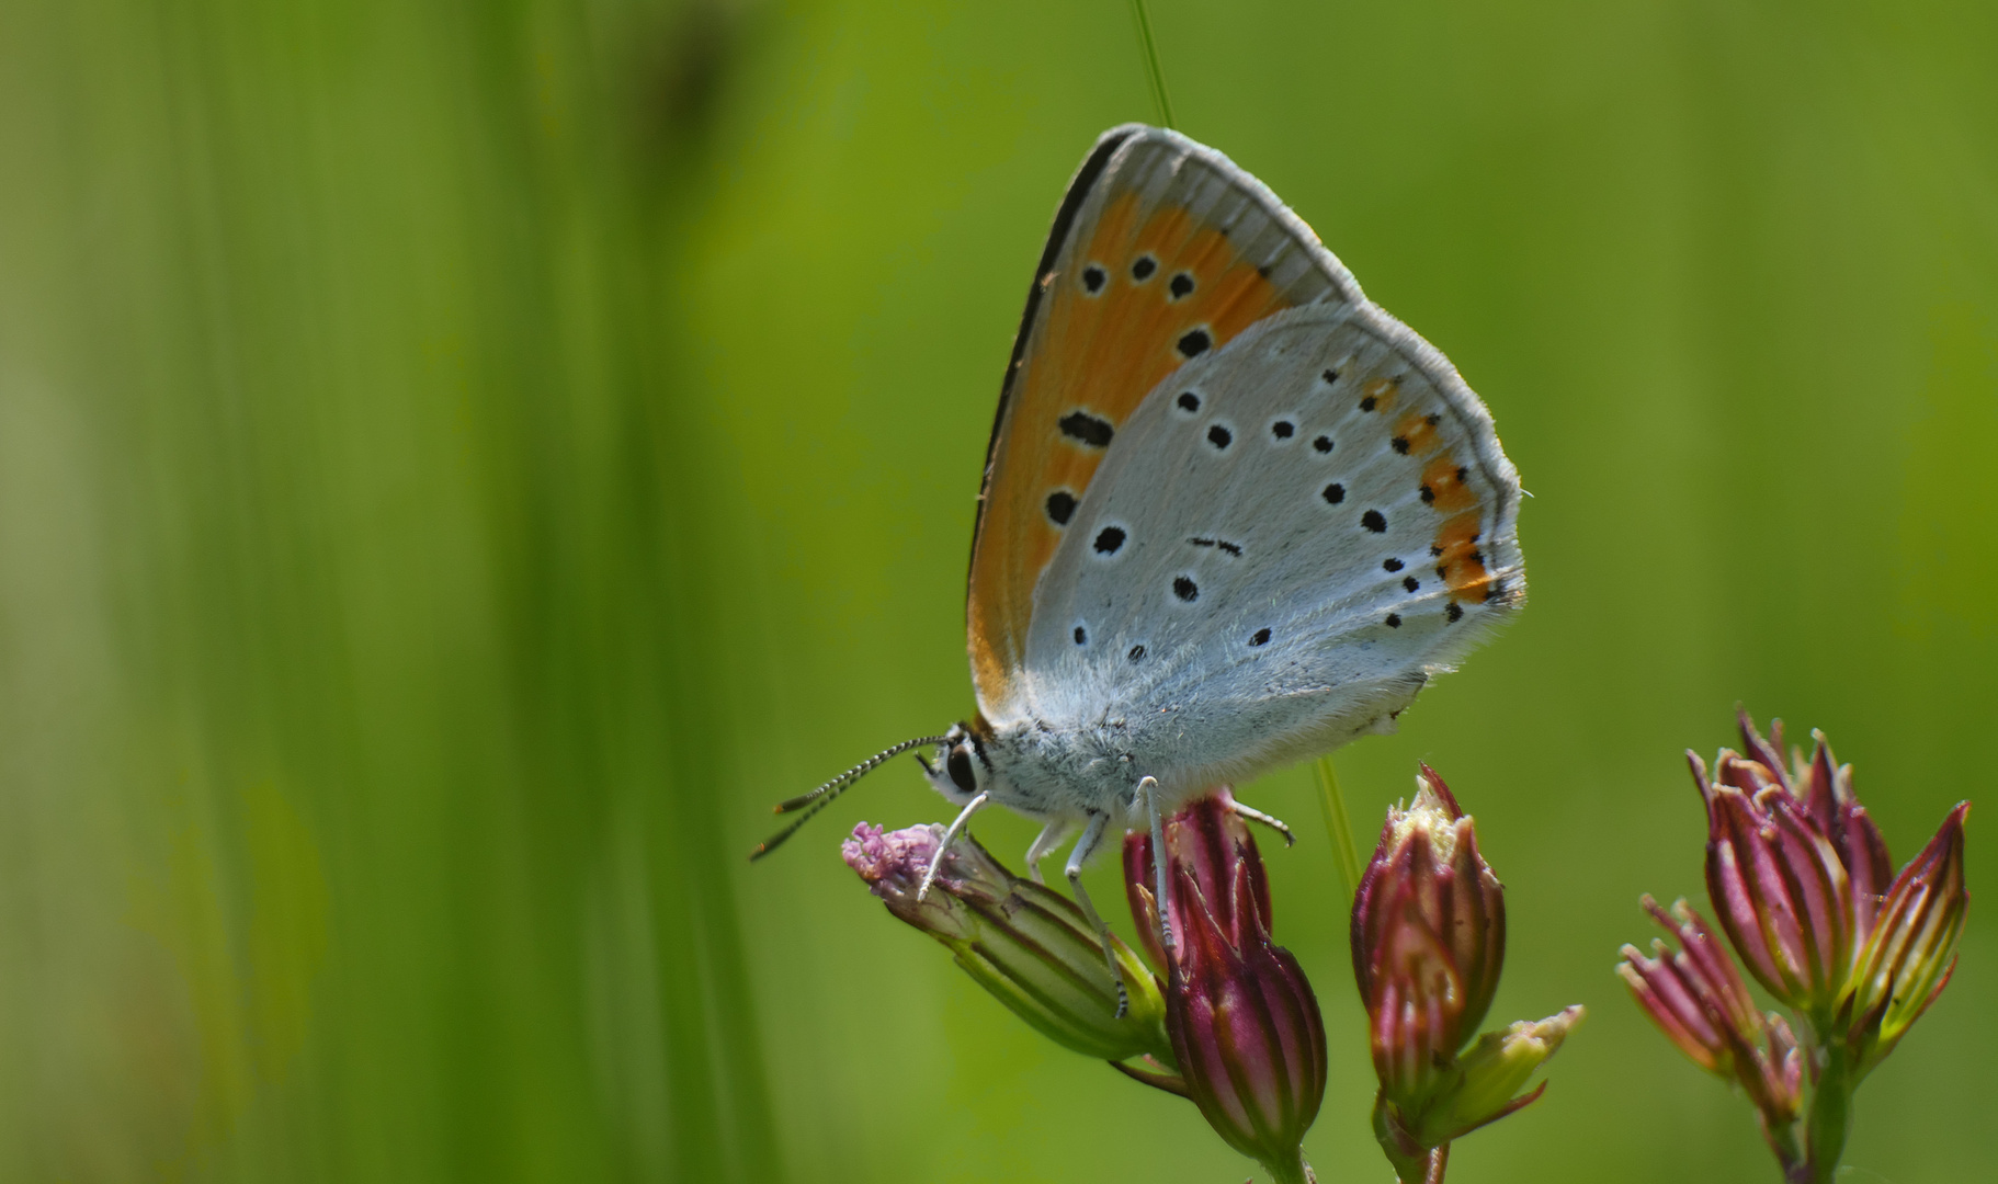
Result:
<svg viewBox="0 0 1998 1184">
<path fill-rule="evenodd" d="M 1518 497 L 1421 337 L 1365 301 L 1277 313 L 1127 415 L 1041 581 L 1023 695 L 1057 727 L 1179 713 L 1165 765 L 1195 779 L 1331 747 L 1520 603 Z"/>
</svg>

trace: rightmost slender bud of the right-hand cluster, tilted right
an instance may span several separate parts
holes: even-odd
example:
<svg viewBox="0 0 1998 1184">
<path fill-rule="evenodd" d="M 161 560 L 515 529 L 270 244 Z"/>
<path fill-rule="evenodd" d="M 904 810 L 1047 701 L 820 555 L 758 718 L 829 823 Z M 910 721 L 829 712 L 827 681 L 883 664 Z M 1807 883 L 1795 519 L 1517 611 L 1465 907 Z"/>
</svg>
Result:
<svg viewBox="0 0 1998 1184">
<path fill-rule="evenodd" d="M 1970 803 L 1950 811 L 1922 855 L 1900 869 L 1858 954 L 1846 1002 L 1846 1040 L 1860 1074 L 1894 1050 L 1956 968 L 1956 940 L 1970 904 L 1964 888 L 1968 813 Z"/>
</svg>

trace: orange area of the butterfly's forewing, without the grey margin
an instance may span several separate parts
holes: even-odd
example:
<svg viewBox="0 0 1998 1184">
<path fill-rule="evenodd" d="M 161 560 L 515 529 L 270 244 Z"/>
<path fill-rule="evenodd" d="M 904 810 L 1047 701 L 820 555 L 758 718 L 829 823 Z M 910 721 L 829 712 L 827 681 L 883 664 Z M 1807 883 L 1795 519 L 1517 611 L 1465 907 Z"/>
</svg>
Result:
<svg viewBox="0 0 1998 1184">
<path fill-rule="evenodd" d="M 1019 667 L 1033 613 L 1033 587 L 1055 555 L 1063 527 L 1047 499 L 1081 499 L 1103 461 L 1103 447 L 1063 433 L 1075 411 L 1115 431 L 1151 387 L 1187 361 L 1181 339 L 1205 331 L 1209 349 L 1295 301 L 1279 292 L 1227 234 L 1185 206 L 1143 210 L 1127 192 L 1103 206 L 1095 226 L 1077 226 L 1075 242 L 1045 278 L 1037 323 L 1021 357 L 1011 409 L 993 441 L 985 505 L 971 561 L 971 673 L 987 703 L 1003 701 L 1009 671 Z M 1151 256 L 1143 278 L 1133 264 Z M 1085 272 L 1103 270 L 1089 294 Z M 1185 274 L 1193 292 L 1175 297 Z"/>
</svg>

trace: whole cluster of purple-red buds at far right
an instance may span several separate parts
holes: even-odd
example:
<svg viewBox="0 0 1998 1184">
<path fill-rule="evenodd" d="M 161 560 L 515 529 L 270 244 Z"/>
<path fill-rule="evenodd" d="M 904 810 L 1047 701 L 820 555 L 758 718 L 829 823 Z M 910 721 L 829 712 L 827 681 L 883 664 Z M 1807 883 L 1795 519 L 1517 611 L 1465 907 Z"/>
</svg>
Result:
<svg viewBox="0 0 1998 1184">
<path fill-rule="evenodd" d="M 1706 807 L 1706 894 L 1728 944 L 1796 1022 L 1762 1014 L 1706 920 L 1684 900 L 1644 908 L 1678 940 L 1622 948 L 1638 1006 L 1700 1068 L 1754 1104 L 1786 1178 L 1828 1180 L 1852 1088 L 1942 994 L 1970 894 L 1960 803 L 1900 875 L 1886 839 L 1822 735 L 1782 759 L 1740 715 L 1742 749 L 1706 765 L 1686 753 Z M 1804 1120 L 1802 1136 L 1796 1124 Z"/>
</svg>

